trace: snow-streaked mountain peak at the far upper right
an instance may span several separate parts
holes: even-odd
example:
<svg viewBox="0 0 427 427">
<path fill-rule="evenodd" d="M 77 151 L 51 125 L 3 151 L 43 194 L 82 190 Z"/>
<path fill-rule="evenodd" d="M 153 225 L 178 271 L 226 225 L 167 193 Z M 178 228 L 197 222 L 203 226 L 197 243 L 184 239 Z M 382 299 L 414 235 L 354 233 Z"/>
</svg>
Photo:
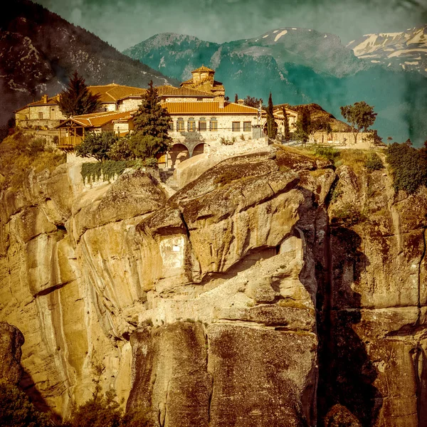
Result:
<svg viewBox="0 0 427 427">
<path fill-rule="evenodd" d="M 371 63 L 427 75 L 427 24 L 397 33 L 365 34 L 350 41 L 347 48 Z"/>
</svg>

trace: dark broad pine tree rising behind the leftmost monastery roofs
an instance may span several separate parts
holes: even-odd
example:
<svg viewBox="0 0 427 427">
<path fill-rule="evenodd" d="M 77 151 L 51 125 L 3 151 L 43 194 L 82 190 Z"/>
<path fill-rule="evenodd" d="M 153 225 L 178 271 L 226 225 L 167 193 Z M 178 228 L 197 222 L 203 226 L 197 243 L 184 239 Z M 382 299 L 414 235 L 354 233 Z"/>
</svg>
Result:
<svg viewBox="0 0 427 427">
<path fill-rule="evenodd" d="M 59 109 L 65 117 L 95 112 L 101 105 L 100 95 L 90 93 L 85 79 L 75 71 L 68 82 L 68 88 L 60 93 Z"/>
</svg>

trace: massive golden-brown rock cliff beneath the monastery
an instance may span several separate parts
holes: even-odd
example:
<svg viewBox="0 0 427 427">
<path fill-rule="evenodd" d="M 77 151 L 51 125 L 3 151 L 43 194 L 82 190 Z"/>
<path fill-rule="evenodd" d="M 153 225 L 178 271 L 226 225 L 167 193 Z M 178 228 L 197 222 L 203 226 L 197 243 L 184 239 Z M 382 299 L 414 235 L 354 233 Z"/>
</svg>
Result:
<svg viewBox="0 0 427 427">
<path fill-rule="evenodd" d="M 162 427 L 426 426 L 427 191 L 384 170 L 270 147 L 173 196 L 70 164 L 3 191 L 21 386 L 68 416 L 95 379 Z"/>
</svg>

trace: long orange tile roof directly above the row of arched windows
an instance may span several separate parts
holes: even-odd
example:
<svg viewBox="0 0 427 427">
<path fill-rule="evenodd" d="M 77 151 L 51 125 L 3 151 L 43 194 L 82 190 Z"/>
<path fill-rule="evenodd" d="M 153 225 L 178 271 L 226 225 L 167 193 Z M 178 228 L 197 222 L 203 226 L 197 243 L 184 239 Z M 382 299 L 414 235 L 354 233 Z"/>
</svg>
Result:
<svg viewBox="0 0 427 427">
<path fill-rule="evenodd" d="M 166 102 L 163 106 L 169 114 L 255 114 L 258 108 L 238 105 L 234 102 L 224 102 L 224 107 L 219 107 L 219 102 Z"/>
</svg>

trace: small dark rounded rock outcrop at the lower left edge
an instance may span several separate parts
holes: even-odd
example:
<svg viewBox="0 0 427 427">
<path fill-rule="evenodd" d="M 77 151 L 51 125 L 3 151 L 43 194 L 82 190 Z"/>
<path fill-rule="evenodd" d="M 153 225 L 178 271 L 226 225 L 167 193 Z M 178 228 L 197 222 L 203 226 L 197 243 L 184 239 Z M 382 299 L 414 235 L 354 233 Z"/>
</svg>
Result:
<svg viewBox="0 0 427 427">
<path fill-rule="evenodd" d="M 0 322 L 0 379 L 18 384 L 22 378 L 21 345 L 23 334 L 14 326 Z"/>
</svg>

